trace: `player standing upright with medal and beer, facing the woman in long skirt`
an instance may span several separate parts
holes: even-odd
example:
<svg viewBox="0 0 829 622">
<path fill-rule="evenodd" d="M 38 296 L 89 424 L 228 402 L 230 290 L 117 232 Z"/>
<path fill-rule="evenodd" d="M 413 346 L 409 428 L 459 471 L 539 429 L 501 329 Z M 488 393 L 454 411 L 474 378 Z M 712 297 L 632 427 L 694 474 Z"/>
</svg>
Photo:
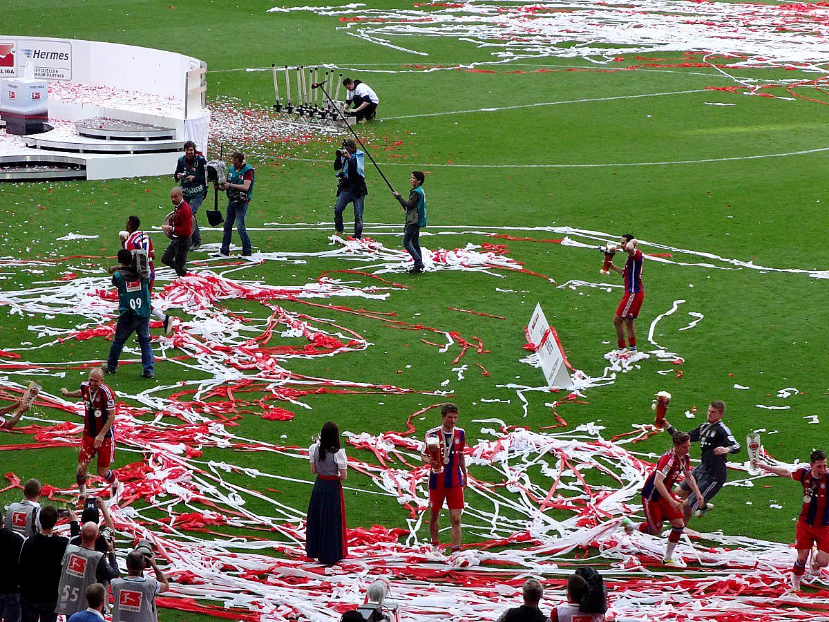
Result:
<svg viewBox="0 0 829 622">
<path fill-rule="evenodd" d="M 449 508 L 449 520 L 452 522 L 452 552 L 461 550 L 461 514 L 463 513 L 463 489 L 468 485 L 466 458 L 466 432 L 455 426 L 458 423 L 458 406 L 447 402 L 440 408 L 443 425 L 426 432 L 425 438 L 436 436 L 439 442 L 440 462 L 443 473 L 429 474 L 429 534 L 432 547 L 440 547 L 438 518 L 444 501 Z M 429 455 L 424 454 L 429 462 Z"/>
</svg>

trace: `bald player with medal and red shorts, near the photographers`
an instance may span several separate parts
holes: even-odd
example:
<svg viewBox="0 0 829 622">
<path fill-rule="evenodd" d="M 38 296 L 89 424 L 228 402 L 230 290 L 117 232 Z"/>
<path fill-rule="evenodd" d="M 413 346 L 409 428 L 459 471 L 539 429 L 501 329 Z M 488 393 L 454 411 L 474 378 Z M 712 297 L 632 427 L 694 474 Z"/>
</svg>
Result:
<svg viewBox="0 0 829 622">
<path fill-rule="evenodd" d="M 98 475 L 112 487 L 112 497 L 118 494 L 119 481 L 109 468 L 115 459 L 115 394 L 104 384 L 104 371 L 95 367 L 87 381 L 80 383 L 80 389 L 61 389 L 66 397 L 82 397 L 84 400 L 84 434 L 78 453 L 77 482 L 81 497 L 86 496 L 86 471 L 95 454 L 98 455 Z"/>
</svg>

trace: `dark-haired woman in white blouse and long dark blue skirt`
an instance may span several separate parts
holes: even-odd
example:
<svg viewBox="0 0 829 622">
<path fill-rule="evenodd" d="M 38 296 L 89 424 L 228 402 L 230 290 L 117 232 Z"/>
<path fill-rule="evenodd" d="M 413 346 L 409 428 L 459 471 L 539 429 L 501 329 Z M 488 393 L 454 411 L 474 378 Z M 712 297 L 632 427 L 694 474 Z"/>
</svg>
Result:
<svg viewBox="0 0 829 622">
<path fill-rule="evenodd" d="M 308 448 L 311 473 L 317 474 L 308 503 L 305 552 L 321 564 L 332 566 L 348 555 L 346 547 L 346 506 L 342 480 L 347 477 L 348 459 L 340 448 L 340 430 L 328 421 L 318 442 Z"/>
</svg>

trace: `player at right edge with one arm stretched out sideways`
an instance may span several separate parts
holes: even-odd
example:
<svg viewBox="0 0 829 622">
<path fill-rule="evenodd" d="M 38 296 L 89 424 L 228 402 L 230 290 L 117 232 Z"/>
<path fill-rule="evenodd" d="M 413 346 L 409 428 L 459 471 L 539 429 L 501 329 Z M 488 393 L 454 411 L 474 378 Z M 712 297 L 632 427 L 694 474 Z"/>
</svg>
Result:
<svg viewBox="0 0 829 622">
<path fill-rule="evenodd" d="M 800 589 L 800 580 L 806 571 L 806 562 L 812 546 L 817 545 L 817 555 L 812 557 L 812 574 L 819 574 L 822 568 L 829 566 L 829 474 L 827 474 L 827 454 L 822 449 L 815 449 L 809 456 L 809 466 L 791 470 L 786 466 L 759 464 L 760 469 L 791 478 L 803 486 L 803 507 L 797 518 L 794 546 L 797 548 L 797 560 L 792 566 L 792 587 Z"/>
</svg>

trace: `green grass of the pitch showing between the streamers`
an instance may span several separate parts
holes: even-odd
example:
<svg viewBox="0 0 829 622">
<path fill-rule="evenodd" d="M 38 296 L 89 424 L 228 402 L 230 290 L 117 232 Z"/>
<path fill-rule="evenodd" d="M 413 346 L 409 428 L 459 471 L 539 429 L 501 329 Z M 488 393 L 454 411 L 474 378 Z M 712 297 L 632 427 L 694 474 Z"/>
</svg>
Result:
<svg viewBox="0 0 829 622">
<path fill-rule="evenodd" d="M 327 6 L 322 2 L 310 4 Z M 391 0 L 372 3 L 372 7 L 380 4 L 411 7 L 410 2 Z M 246 68 L 269 67 L 271 63 L 336 62 L 347 67 L 397 70 L 347 73 L 366 81 L 381 97 L 381 120 L 361 125 L 361 136 L 366 143 L 380 147 L 371 149 L 371 153 L 395 187 L 404 192 L 413 168 L 428 173 L 424 188 L 429 197 L 426 232 L 430 234 L 450 231 L 453 226 L 458 226 L 456 231 L 493 227 L 511 236 L 543 240 L 561 236 L 510 228 L 570 226 L 613 237 L 633 232 L 643 241 L 646 252 L 664 252 L 656 246 L 662 245 L 753 261 L 769 269 L 824 270 L 829 264 L 829 245 L 823 233 L 827 152 L 746 158 L 826 148 L 823 128 L 827 111 L 821 104 L 705 91 L 705 87 L 732 82 L 714 70 L 699 67 L 568 71 L 565 69 L 595 67 L 580 59 L 543 58 L 489 66 L 494 73 L 424 72 L 410 65 L 482 62 L 492 57 L 486 49 L 477 49 L 466 41 L 439 37 L 420 37 L 416 41 L 418 49 L 428 51 L 429 56 L 414 56 L 349 36 L 337 17 L 313 12 L 267 12 L 272 6 L 274 2 L 259 0 L 238 6 L 191 0 L 138 0 L 128 4 L 90 0 L 67 6 L 65 2 L 32 0 L 25 11 L 17 8 L 4 12 L 0 24 L 3 32 L 13 34 L 87 38 L 181 51 L 207 62 L 209 100 L 231 97 L 254 106 L 272 103 L 270 73 Z M 405 44 L 412 45 L 413 41 Z M 662 61 L 664 64 L 681 62 L 679 52 L 658 56 L 667 59 Z M 628 59 L 613 68 L 636 62 Z M 511 73 L 516 69 L 526 73 Z M 536 71 L 539 69 L 547 71 Z M 800 77 L 797 71 L 768 69 L 733 73 L 761 80 Z M 814 77 L 812 74 L 809 79 Z M 538 105 L 517 107 L 523 104 Z M 454 114 L 463 110 L 471 112 Z M 429 113 L 453 114 L 417 116 Z M 240 140 L 239 144 L 225 144 L 225 152 L 240 148 L 250 153 L 248 161 L 257 169 L 256 196 L 247 224 L 259 250 L 319 252 L 330 248 L 325 234 L 332 226 L 325 231 L 313 227 L 292 231 L 288 227 L 332 221 L 336 180 L 330 159 L 340 138 L 312 138 L 307 143 L 247 144 Z M 389 146 L 396 141 L 401 143 Z M 366 224 L 402 223 L 400 207 L 381 178 L 368 166 L 366 172 L 370 192 Z M 94 255 L 88 260 L 90 267 L 108 266 L 119 248 L 118 231 L 126 216 L 137 213 L 145 222 L 160 224 L 167 213 L 171 182 L 171 177 L 158 177 L 2 185 L 0 256 L 48 260 Z M 257 231 L 264 223 L 279 226 Z M 56 241 L 70 231 L 99 238 Z M 206 243 L 218 242 L 221 231 L 204 226 L 202 235 Z M 400 237 L 384 236 L 380 240 L 387 247 L 400 245 Z M 155 241 L 160 255 L 162 238 L 156 237 Z M 462 247 L 468 242 L 505 244 L 507 255 L 521 261 L 526 270 L 546 275 L 558 284 L 570 279 L 600 281 L 598 251 L 535 241 L 493 240 L 475 233 L 421 236 L 421 244 L 430 249 Z M 689 263 L 704 260 L 676 251 L 671 259 Z M 80 265 L 78 261 L 61 262 L 51 269 L 40 267 L 42 274 L 3 267 L 0 289 L 14 292 L 36 287 L 59 278 L 70 265 Z M 325 270 L 351 267 L 342 260 L 319 257 L 305 265 L 268 262 L 236 276 L 274 285 L 302 285 L 318 279 Z M 515 391 L 499 386 L 509 382 L 527 386 L 544 383 L 540 370 L 519 362 L 527 353 L 521 346 L 532 309 L 536 302 L 541 303 L 573 366 L 599 377 L 605 364 L 604 352 L 614 343 L 611 320 L 618 289 L 557 289 L 536 276 L 507 271 L 498 274 L 504 278 L 459 271 L 381 275 L 408 289 L 396 290 L 385 300 L 346 299 L 342 303 L 362 305 L 376 313 L 394 312 L 401 321 L 481 338 L 489 352 L 470 350 L 466 354 L 461 362 L 470 368 L 463 381 L 451 371 L 456 367 L 452 360 L 457 349 L 438 354 L 434 346 L 420 342 L 419 333 L 415 337 L 360 316 L 335 319 L 366 338 L 370 345 L 364 352 L 292 360 L 286 367 L 315 377 L 396 384 L 419 391 L 453 390 L 452 399 L 461 411 L 459 425 L 466 428 L 470 440 L 480 438 L 480 424 L 472 420 L 498 417 L 531 430 L 555 424 L 551 409 L 544 406 L 555 396 L 527 394 L 530 406 L 525 418 Z M 829 435 L 822 418 L 829 388 L 823 362 L 829 340 L 822 318 L 829 306 L 829 294 L 824 279 L 807 273 L 745 267 L 715 270 L 655 261 L 646 263 L 644 279 L 647 296 L 637 322 L 640 347 L 649 349 L 646 334 L 653 318 L 682 299 L 685 302 L 678 311 L 658 323 L 655 338 L 685 362 L 674 366 L 651 357 L 641 363 L 641 369 L 619 374 L 613 384 L 590 389 L 584 396 L 586 403 L 560 407 L 559 414 L 568 424 L 600 421 L 606 428 L 605 438 L 628 432 L 632 425 L 652 420 L 651 396 L 667 390 L 674 397 L 670 418 L 677 427 L 699 425 L 708 401 L 722 399 L 728 405 L 726 422 L 742 443 L 749 431 L 776 431 L 763 436 L 764 445 L 776 459 L 787 462 L 806 460 L 812 448 L 826 448 Z M 365 286 L 369 280 L 361 282 Z M 514 291 L 503 293 L 497 289 Z M 40 343 L 42 339 L 31 327 L 45 320 L 11 313 L 12 309 L 3 306 L 2 292 L 0 350 L 21 347 L 24 342 Z M 328 302 L 339 304 L 337 299 L 322 301 Z M 315 314 L 303 304 L 280 304 L 293 312 Z M 448 307 L 506 319 L 458 313 Z M 262 313 L 259 304 L 252 302 L 235 301 L 232 308 L 259 316 Z M 680 331 L 693 319 L 689 312 L 701 313 L 704 318 L 696 327 Z M 57 318 L 50 325 L 68 327 L 82 321 Z M 30 362 L 102 360 L 108 348 L 109 342 L 95 338 L 25 352 L 23 357 Z M 175 353 L 169 351 L 167 355 Z M 473 363 L 486 367 L 490 376 L 480 374 Z M 667 367 L 671 367 L 670 373 L 657 373 Z M 110 385 L 134 395 L 153 386 L 152 382 L 160 386 L 198 378 L 186 367 L 160 361 L 156 380 L 146 383 L 138 378 L 137 368 L 123 367 Z M 681 377 L 676 374 L 679 370 Z M 74 387 L 80 381 L 81 372 L 76 368 L 67 366 L 62 371 L 66 372 L 65 379 L 40 377 L 46 391 L 56 393 L 59 387 Z M 452 380 L 442 387 L 441 382 L 448 378 Z M 20 376 L 11 379 L 22 381 Z M 735 389 L 735 384 L 749 388 Z M 779 398 L 778 391 L 785 387 L 797 388 L 798 394 Z M 482 397 L 511 403 L 485 403 Z M 336 420 L 341 430 L 376 435 L 385 430 L 404 430 L 412 412 L 441 401 L 439 396 L 418 394 L 327 394 L 301 400 L 311 410 L 284 406 L 296 413 L 292 421 L 245 415 L 234 433 L 307 446 L 325 420 Z M 766 410 L 756 405 L 790 408 Z M 693 421 L 682 415 L 691 406 L 698 410 Z M 426 420 L 413 421 L 419 437 L 438 424 L 434 413 L 429 411 Z M 52 420 L 65 416 L 46 409 L 36 415 Z M 809 424 L 809 415 L 817 415 L 821 422 Z M 279 438 L 281 435 L 285 437 Z M 21 435 L 0 435 L 0 444 L 26 441 Z M 633 448 L 628 445 L 628 449 L 661 454 L 667 449 L 667 439 L 656 435 Z M 37 477 L 56 487 L 68 487 L 74 483 L 73 451 L 5 451 L 0 453 L 2 473 L 11 471 L 21 479 Z M 349 454 L 375 460 L 363 450 L 352 448 Z M 128 454 L 120 455 L 123 458 Z M 698 457 L 698 449 L 692 449 L 691 455 Z M 201 459 L 263 469 L 265 464 L 259 454 L 223 449 L 206 449 Z M 124 462 L 119 460 L 121 464 Z M 297 464 L 284 456 L 267 458 L 271 472 L 310 482 L 312 476 L 305 473 L 304 464 L 301 472 Z M 482 478 L 487 477 L 485 471 L 480 473 Z M 270 485 L 258 480 L 250 484 L 250 479 L 241 476 L 228 479 L 261 489 Z M 361 474 L 354 475 L 349 483 L 356 488 L 372 486 L 371 480 Z M 705 524 L 697 528 L 791 542 L 793 517 L 801 500 L 797 484 L 781 479 L 763 480 L 763 484 L 724 488 L 716 499 L 717 510 L 702 519 Z M 307 503 L 307 485 L 280 483 L 276 488 L 283 503 L 295 508 Z M 18 495 L 18 490 L 7 490 L 0 494 L 0 500 L 8 503 Z M 769 508 L 770 504 L 782 509 Z M 264 503 L 253 502 L 251 507 L 260 513 L 269 511 Z M 407 517 L 394 498 L 367 494 L 347 498 L 349 527 L 405 527 Z M 425 530 L 419 536 L 427 537 Z M 163 617 L 198 619 L 175 612 Z"/>
</svg>

